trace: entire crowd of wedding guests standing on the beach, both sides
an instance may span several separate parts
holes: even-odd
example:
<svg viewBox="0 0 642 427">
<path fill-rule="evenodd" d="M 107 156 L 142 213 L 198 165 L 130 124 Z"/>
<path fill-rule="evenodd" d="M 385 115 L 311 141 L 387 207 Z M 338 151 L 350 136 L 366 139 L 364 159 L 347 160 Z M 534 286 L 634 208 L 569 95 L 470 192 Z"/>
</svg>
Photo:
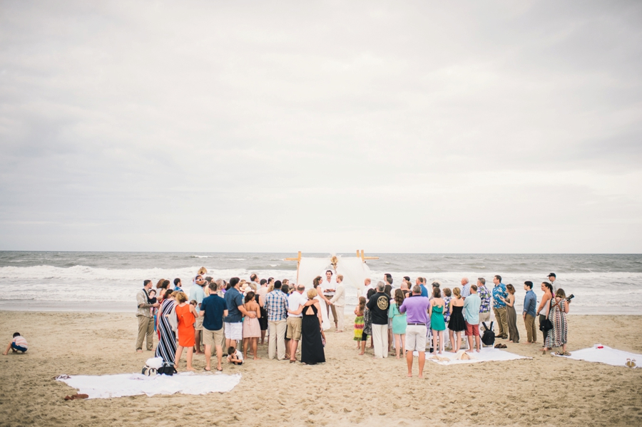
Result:
<svg viewBox="0 0 642 427">
<path fill-rule="evenodd" d="M 344 330 L 345 287 L 343 277 L 332 270 L 325 278 L 318 276 L 312 287 L 290 284 L 287 279 L 259 279 L 252 274 L 249 281 L 232 277 L 229 282 L 206 277 L 202 267 L 189 289 L 180 279 L 160 279 L 153 287 L 145 280 L 137 294 L 138 339 L 136 351 L 153 350 L 153 334 L 158 334 L 156 356 L 178 369 L 186 353 L 186 368 L 193 370 L 193 354 L 205 354 L 205 370 L 211 370 L 213 351 L 216 369 L 222 371 L 223 357 L 230 364 L 242 365 L 260 359 L 258 346 L 267 336 L 269 359 L 299 361 L 303 364 L 325 362 L 325 334 L 332 329 Z M 570 298 L 556 284 L 556 274 L 541 283 L 544 292 L 537 304 L 532 282 L 524 282 L 522 318 L 526 342 L 538 344 L 536 317 L 542 334 L 541 350 L 561 347 L 566 351 Z M 444 351 L 481 351 L 481 335 L 492 328 L 487 324 L 494 317 L 496 337 L 519 343 L 516 289 L 493 277 L 494 286 L 486 287 L 483 277 L 476 284 L 464 277 L 461 287 L 442 287 L 438 281 L 429 288 L 424 277 L 414 284 L 404 277 L 398 288 L 391 274 L 375 285 L 365 279 L 365 287 L 355 308 L 354 339 L 358 354 L 364 355 L 370 336 L 370 349 L 375 358 L 394 354 L 407 359 L 408 375 L 412 375 L 413 352 L 419 354 L 419 376 L 427 347 L 434 354 Z M 491 312 L 492 310 L 492 312 Z M 492 313 L 492 314 L 491 314 Z M 480 325 L 483 327 L 480 327 Z M 462 334 L 466 341 L 462 341 Z M 299 349 L 299 344 L 301 344 Z M 502 346 L 502 344 L 497 344 Z M 238 348 L 237 348 L 238 347 Z"/>
</svg>

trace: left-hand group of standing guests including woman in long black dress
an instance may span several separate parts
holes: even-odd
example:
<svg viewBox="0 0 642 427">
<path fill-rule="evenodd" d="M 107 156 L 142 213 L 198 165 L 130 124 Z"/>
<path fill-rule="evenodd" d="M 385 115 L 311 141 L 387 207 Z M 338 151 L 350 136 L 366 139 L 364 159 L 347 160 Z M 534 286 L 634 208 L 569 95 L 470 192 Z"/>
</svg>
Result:
<svg viewBox="0 0 642 427">
<path fill-rule="evenodd" d="M 205 346 L 205 371 L 211 370 L 210 359 L 216 351 L 216 369 L 223 369 L 223 352 L 228 361 L 243 364 L 248 356 L 260 359 L 258 345 L 265 344 L 270 359 L 297 361 L 301 341 L 300 361 L 304 364 L 325 362 L 325 330 L 330 328 L 330 307 L 336 306 L 343 313 L 345 289 L 342 276 L 326 280 L 319 276 L 315 286 L 306 291 L 305 286 L 290 286 L 283 281 L 259 279 L 256 274 L 246 282 L 232 277 L 229 282 L 204 277 L 203 267 L 185 292 L 180 279 L 161 279 L 152 289 L 151 280 L 143 282 L 138 292 L 138 338 L 136 351 L 143 351 L 146 341 L 148 351 L 153 349 L 153 333 L 158 334 L 156 356 L 175 365 L 185 350 L 186 369 L 193 370 L 193 354 L 203 354 Z M 324 283 L 327 282 L 327 283 Z M 335 312 L 336 313 L 336 312 Z M 335 328 L 342 331 L 343 316 L 334 315 Z M 341 329 L 339 329 L 341 328 Z M 259 341 L 260 340 L 260 341 Z M 242 351 L 237 351 L 242 343 Z"/>
</svg>

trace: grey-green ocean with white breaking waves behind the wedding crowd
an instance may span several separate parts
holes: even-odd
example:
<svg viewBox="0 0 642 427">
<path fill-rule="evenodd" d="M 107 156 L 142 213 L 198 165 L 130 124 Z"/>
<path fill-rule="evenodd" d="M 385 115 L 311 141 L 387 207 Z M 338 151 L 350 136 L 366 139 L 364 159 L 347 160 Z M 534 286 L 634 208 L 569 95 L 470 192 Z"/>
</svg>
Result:
<svg viewBox="0 0 642 427">
<path fill-rule="evenodd" d="M 354 256 L 354 254 L 342 254 Z M 550 272 L 558 286 L 574 294 L 577 314 L 642 314 L 642 254 L 367 254 L 373 282 L 392 274 L 426 277 L 451 289 L 462 277 L 475 283 L 484 277 L 492 287 L 494 274 L 524 298 L 524 281 L 539 284 Z M 199 267 L 215 279 L 251 273 L 260 278 L 296 279 L 295 253 L 200 252 L 0 252 L 0 309 L 31 311 L 136 311 L 136 292 L 144 279 L 183 279 L 189 287 Z M 303 254 L 319 257 L 327 254 Z M 322 274 L 322 272 L 320 272 Z M 347 288 L 346 313 L 352 312 L 357 291 Z"/>
</svg>

